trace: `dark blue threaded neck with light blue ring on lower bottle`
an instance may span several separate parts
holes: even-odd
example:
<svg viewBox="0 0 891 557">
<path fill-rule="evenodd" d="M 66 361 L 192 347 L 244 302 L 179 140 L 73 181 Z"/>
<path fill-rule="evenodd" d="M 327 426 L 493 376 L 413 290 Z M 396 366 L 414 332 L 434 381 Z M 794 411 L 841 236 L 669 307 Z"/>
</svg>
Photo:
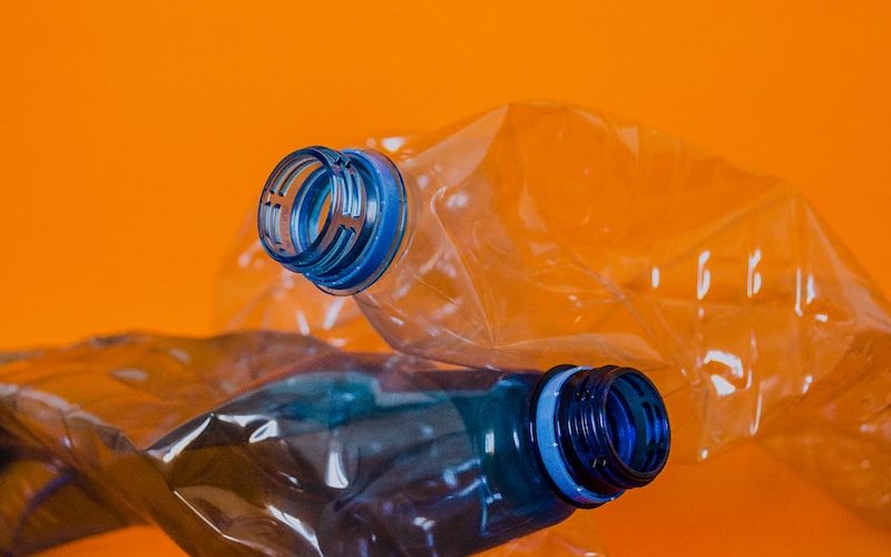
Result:
<svg viewBox="0 0 891 557">
<path fill-rule="evenodd" d="M 649 483 L 668 458 L 668 414 L 639 371 L 554 368 L 539 382 L 532 408 L 541 465 L 577 507 L 597 507 Z"/>
</svg>

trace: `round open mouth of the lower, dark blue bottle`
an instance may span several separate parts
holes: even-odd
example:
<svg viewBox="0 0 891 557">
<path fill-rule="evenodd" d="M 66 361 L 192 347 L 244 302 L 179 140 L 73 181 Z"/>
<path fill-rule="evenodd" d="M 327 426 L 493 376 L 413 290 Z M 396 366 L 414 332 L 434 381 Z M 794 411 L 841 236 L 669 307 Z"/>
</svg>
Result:
<svg viewBox="0 0 891 557">
<path fill-rule="evenodd" d="M 640 479 L 655 477 L 668 457 L 670 433 L 655 385 L 633 370 L 615 377 L 604 398 L 606 438 L 617 463 Z"/>
</svg>

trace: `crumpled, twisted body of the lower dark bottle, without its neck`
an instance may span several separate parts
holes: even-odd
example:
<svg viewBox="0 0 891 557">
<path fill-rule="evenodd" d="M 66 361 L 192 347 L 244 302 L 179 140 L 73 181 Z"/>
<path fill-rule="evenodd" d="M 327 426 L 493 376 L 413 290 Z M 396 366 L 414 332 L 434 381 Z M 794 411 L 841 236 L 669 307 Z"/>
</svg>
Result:
<svg viewBox="0 0 891 557">
<path fill-rule="evenodd" d="M 510 554 L 591 555 L 591 536 L 522 537 L 575 510 L 532 452 L 480 458 L 526 428 L 539 378 L 273 332 L 10 359 L 0 554 L 154 522 L 194 555 L 464 555 L 516 537 Z"/>
</svg>

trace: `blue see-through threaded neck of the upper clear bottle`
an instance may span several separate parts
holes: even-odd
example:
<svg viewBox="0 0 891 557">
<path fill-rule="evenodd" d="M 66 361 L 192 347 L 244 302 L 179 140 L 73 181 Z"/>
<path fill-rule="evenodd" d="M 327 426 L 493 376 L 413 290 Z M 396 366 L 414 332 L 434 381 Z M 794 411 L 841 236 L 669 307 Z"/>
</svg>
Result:
<svg viewBox="0 0 891 557">
<path fill-rule="evenodd" d="M 405 185 L 385 156 L 307 147 L 273 169 L 257 228 L 272 258 L 327 293 L 350 295 L 386 270 L 407 218 Z"/>
</svg>

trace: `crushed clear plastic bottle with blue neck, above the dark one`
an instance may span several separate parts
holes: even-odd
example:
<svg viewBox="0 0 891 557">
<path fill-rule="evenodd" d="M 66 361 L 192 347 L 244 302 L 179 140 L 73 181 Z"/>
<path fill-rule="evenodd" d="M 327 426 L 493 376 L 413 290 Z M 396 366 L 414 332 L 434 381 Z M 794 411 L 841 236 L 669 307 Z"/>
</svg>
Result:
<svg viewBox="0 0 891 557">
<path fill-rule="evenodd" d="M 891 342 L 887 301 L 794 188 L 557 104 L 499 107 L 389 157 L 296 152 L 258 228 L 400 351 L 640 369 L 693 458 L 777 427 L 856 339 Z"/>
</svg>

